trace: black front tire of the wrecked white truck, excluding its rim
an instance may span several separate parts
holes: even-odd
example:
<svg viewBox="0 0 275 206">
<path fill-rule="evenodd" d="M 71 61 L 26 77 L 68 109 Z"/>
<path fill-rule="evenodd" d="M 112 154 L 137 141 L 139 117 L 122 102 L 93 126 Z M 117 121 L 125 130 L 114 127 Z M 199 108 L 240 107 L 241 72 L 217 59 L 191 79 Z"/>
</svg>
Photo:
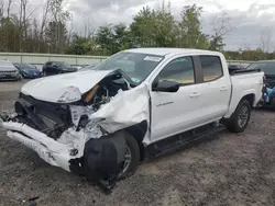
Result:
<svg viewBox="0 0 275 206">
<path fill-rule="evenodd" d="M 136 171 L 136 168 L 141 159 L 140 147 L 135 138 L 129 133 L 127 133 L 125 141 L 127 141 L 127 148 L 131 152 L 131 161 L 130 161 L 129 167 L 124 171 L 123 171 L 124 169 L 124 165 L 123 165 L 123 168 L 121 169 L 121 173 L 118 176 L 118 180 L 123 180 L 133 175 L 134 172 Z"/>
</svg>

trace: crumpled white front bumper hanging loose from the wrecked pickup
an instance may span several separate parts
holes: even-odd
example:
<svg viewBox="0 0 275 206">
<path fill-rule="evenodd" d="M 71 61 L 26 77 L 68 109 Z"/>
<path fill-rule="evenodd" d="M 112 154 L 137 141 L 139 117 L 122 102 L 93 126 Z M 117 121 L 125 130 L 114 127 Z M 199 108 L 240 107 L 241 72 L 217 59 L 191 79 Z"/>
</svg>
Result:
<svg viewBox="0 0 275 206">
<path fill-rule="evenodd" d="M 8 129 L 8 137 L 32 149 L 47 163 L 70 171 L 69 160 L 73 157 L 69 154 L 70 148 L 67 145 L 55 141 L 25 124 L 13 122 L 2 122 L 0 124 Z"/>
</svg>

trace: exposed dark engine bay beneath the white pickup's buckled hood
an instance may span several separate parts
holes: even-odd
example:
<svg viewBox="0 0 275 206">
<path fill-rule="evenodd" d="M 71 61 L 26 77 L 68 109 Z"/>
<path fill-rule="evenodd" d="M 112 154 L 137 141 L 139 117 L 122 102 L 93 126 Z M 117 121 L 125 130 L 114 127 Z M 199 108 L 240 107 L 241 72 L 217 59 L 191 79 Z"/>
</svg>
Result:
<svg viewBox="0 0 275 206">
<path fill-rule="evenodd" d="M 116 72 L 84 93 L 81 100 L 72 104 L 64 101 L 48 103 L 20 93 L 19 100 L 15 102 L 16 121 L 57 140 L 69 127 L 76 126 L 76 130 L 84 128 L 89 122 L 88 114 L 96 113 L 102 104 L 109 103 L 119 91 L 129 89 L 131 89 L 130 84 L 123 76 Z"/>
</svg>

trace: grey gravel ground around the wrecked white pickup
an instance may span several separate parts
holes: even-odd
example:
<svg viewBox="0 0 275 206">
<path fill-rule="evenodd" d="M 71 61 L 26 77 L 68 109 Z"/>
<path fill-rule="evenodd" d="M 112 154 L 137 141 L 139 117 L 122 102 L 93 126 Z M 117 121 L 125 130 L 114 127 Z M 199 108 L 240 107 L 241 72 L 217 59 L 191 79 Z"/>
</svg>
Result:
<svg viewBox="0 0 275 206">
<path fill-rule="evenodd" d="M 22 83 L 0 82 L 0 110 Z M 275 115 L 254 111 L 242 135 L 211 140 L 143 163 L 111 195 L 82 178 L 43 162 L 0 130 L 0 205 L 275 205 Z"/>
</svg>

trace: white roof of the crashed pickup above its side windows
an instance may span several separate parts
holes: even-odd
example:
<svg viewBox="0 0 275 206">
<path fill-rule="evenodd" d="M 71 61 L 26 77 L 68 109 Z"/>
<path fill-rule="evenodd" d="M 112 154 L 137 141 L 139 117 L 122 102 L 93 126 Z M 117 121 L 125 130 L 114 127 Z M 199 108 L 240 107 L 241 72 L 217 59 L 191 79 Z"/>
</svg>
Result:
<svg viewBox="0 0 275 206">
<path fill-rule="evenodd" d="M 124 52 L 131 53 L 141 53 L 141 54 L 148 54 L 148 55 L 158 55 L 158 56 L 166 56 L 166 55 L 178 55 L 178 54 L 198 54 L 198 55 L 221 55 L 218 52 L 211 50 L 204 50 L 204 49 L 193 49 L 193 48 L 162 48 L 162 47 L 154 47 L 154 48 L 131 48 Z"/>
</svg>

